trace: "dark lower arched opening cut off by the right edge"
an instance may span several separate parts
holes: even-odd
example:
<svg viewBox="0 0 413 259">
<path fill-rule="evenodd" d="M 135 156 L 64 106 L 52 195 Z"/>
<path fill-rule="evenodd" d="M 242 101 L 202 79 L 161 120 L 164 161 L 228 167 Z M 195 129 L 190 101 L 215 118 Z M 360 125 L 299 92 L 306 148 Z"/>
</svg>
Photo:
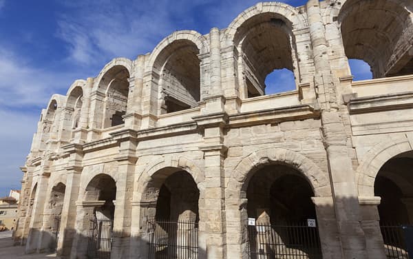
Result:
<svg viewBox="0 0 413 259">
<path fill-rule="evenodd" d="M 402 226 L 413 225 L 412 168 L 413 152 L 399 154 L 381 167 L 374 181 L 374 195 L 381 197 L 379 216 L 385 251 L 394 258 L 407 256 L 409 239 Z"/>
</svg>

